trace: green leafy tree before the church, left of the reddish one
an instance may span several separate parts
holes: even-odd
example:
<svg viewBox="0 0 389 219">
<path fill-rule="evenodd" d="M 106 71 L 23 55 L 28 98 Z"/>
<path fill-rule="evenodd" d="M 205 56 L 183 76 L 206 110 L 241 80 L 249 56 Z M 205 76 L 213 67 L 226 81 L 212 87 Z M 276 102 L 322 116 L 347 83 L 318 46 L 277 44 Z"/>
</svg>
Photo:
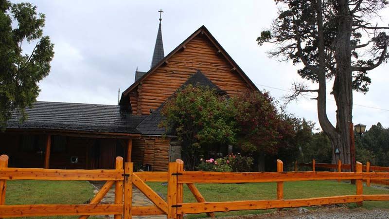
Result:
<svg viewBox="0 0 389 219">
<path fill-rule="evenodd" d="M 235 143 L 234 110 L 226 95 L 215 90 L 188 85 L 164 104 L 161 113 L 165 120 L 160 126 L 176 131 L 187 169 L 195 169 L 206 146 Z"/>
</svg>

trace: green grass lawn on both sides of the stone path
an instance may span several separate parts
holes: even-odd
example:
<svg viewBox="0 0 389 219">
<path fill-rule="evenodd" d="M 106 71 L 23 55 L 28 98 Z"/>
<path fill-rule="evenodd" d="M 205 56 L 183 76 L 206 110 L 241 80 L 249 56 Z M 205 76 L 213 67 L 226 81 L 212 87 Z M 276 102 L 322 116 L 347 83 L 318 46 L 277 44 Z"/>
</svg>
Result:
<svg viewBox="0 0 389 219">
<path fill-rule="evenodd" d="M 148 183 L 156 192 L 166 197 L 167 186 Z M 276 199 L 276 183 L 242 184 L 196 184 L 207 201 L 240 201 Z M 303 181 L 284 183 L 284 198 L 313 198 L 336 195 L 354 195 L 355 185 L 336 181 Z M 387 188 L 363 187 L 364 194 L 389 194 Z M 82 204 L 93 197 L 93 187 L 86 181 L 8 181 L 6 204 Z M 184 186 L 184 202 L 195 202 L 195 198 Z M 355 204 L 349 204 L 355 207 Z M 389 202 L 364 201 L 364 207 L 389 208 Z M 272 210 L 235 211 L 216 213 L 216 216 L 260 214 Z M 206 217 L 205 214 L 189 215 L 187 218 Z M 43 218 L 43 217 L 41 217 Z M 46 217 L 55 219 L 75 219 L 78 217 Z M 91 219 L 93 217 L 90 217 Z"/>
</svg>

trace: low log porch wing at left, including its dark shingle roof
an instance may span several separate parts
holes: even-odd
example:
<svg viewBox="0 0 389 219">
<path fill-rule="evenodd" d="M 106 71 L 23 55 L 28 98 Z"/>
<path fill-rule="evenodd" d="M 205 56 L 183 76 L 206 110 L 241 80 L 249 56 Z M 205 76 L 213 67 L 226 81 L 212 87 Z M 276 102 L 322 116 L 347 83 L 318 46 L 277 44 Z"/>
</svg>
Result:
<svg viewBox="0 0 389 219">
<path fill-rule="evenodd" d="M 9 166 L 111 169 L 116 156 L 131 162 L 132 142 L 143 116 L 118 105 L 36 102 L 20 123 L 15 111 L 0 132 L 0 154 Z"/>
</svg>

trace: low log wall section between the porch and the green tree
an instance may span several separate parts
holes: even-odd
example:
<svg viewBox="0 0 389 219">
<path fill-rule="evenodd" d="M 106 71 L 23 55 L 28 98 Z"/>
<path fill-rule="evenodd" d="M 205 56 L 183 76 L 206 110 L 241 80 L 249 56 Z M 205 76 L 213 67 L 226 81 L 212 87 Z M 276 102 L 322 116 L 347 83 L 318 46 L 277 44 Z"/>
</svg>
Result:
<svg viewBox="0 0 389 219">
<path fill-rule="evenodd" d="M 131 159 L 134 163 L 151 165 L 153 171 L 167 171 L 169 148 L 170 138 L 143 136 L 133 139 Z"/>
</svg>

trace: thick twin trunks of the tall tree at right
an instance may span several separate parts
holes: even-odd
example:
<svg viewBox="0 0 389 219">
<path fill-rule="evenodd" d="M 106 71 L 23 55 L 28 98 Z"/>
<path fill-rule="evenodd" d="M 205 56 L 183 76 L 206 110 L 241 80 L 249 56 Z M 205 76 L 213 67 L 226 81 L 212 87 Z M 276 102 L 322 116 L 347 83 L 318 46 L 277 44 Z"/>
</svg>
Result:
<svg viewBox="0 0 389 219">
<path fill-rule="evenodd" d="M 353 88 L 351 72 L 352 18 L 347 0 L 339 0 L 338 34 L 335 42 L 336 75 L 333 92 L 336 100 L 336 128 L 328 120 L 326 112 L 326 70 L 324 35 L 321 14 L 321 0 L 318 0 L 318 119 L 321 128 L 326 133 L 333 146 L 333 163 L 336 163 L 335 148 L 339 149 L 340 160 L 343 164 L 350 164 L 350 132 L 349 123 L 352 121 Z"/>
</svg>

